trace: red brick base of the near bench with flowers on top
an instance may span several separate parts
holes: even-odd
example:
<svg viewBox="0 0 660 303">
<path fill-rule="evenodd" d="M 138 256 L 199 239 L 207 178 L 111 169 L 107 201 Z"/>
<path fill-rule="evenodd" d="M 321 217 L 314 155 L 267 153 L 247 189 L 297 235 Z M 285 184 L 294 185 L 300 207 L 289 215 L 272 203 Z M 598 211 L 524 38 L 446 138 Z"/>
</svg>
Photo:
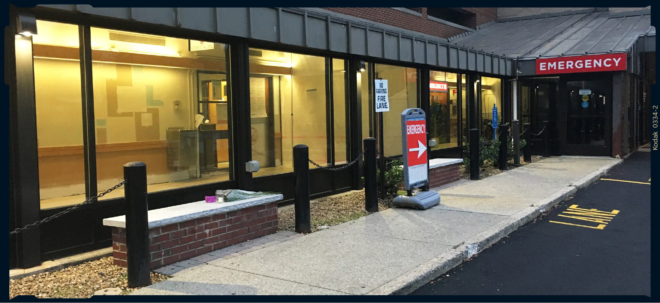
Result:
<svg viewBox="0 0 660 303">
<path fill-rule="evenodd" d="M 277 202 L 149 229 L 150 268 L 277 232 Z M 114 264 L 126 267 L 126 229 L 112 227 Z"/>
</svg>

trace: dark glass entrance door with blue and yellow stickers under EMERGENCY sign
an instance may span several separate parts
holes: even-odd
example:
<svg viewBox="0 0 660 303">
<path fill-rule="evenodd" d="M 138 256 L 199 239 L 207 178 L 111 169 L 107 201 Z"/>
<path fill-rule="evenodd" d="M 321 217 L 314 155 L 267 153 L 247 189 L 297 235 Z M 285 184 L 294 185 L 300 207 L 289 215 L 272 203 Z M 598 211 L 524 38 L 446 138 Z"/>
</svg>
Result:
<svg viewBox="0 0 660 303">
<path fill-rule="evenodd" d="M 612 88 L 606 81 L 567 81 L 562 92 L 565 155 L 611 153 Z"/>
</svg>

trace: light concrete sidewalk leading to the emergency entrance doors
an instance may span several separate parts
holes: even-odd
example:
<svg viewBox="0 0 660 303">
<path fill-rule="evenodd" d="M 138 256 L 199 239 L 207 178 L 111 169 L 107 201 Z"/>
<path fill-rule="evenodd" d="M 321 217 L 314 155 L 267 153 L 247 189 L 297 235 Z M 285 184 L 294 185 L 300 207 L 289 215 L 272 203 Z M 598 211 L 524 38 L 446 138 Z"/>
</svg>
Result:
<svg viewBox="0 0 660 303">
<path fill-rule="evenodd" d="M 158 270 L 133 294 L 406 294 L 591 184 L 621 160 L 550 157 L 436 188 L 440 205 L 391 208 L 300 236 L 278 233 Z"/>
</svg>

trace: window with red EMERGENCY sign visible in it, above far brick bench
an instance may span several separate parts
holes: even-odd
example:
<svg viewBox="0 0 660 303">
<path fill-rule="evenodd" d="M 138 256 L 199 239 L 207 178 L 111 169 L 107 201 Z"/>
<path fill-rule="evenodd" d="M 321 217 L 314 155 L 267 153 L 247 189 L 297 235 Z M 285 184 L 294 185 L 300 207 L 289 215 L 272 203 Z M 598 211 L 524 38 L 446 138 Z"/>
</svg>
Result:
<svg viewBox="0 0 660 303">
<path fill-rule="evenodd" d="M 426 125 L 430 137 L 437 142 L 431 150 L 458 146 L 458 75 L 431 70 L 429 76 Z"/>
</svg>

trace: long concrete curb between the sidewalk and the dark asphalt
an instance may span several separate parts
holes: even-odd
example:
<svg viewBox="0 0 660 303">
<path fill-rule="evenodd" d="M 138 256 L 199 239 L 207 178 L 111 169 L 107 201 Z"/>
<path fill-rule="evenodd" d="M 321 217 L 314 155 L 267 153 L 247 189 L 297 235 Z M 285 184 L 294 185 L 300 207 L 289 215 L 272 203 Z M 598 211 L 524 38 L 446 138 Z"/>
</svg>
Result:
<svg viewBox="0 0 660 303">
<path fill-rule="evenodd" d="M 496 223 L 492 227 L 473 236 L 469 240 L 459 244 L 447 252 L 436 256 L 435 258 L 418 265 L 417 267 L 400 275 L 396 279 L 389 281 L 380 287 L 370 291 L 368 294 L 409 294 L 425 285 L 429 281 L 436 279 L 443 273 L 446 273 L 453 267 L 460 265 L 467 258 L 478 254 L 482 250 L 495 244 L 500 239 L 512 233 L 519 227 L 525 225 L 538 217 L 543 211 L 547 211 L 559 202 L 575 194 L 578 189 L 584 188 L 605 175 L 612 167 L 620 164 L 622 161 L 609 163 L 589 173 L 582 179 L 573 182 L 569 186 L 550 194 L 546 198 L 535 202 L 531 206 L 521 209 L 510 217 Z"/>
</svg>

